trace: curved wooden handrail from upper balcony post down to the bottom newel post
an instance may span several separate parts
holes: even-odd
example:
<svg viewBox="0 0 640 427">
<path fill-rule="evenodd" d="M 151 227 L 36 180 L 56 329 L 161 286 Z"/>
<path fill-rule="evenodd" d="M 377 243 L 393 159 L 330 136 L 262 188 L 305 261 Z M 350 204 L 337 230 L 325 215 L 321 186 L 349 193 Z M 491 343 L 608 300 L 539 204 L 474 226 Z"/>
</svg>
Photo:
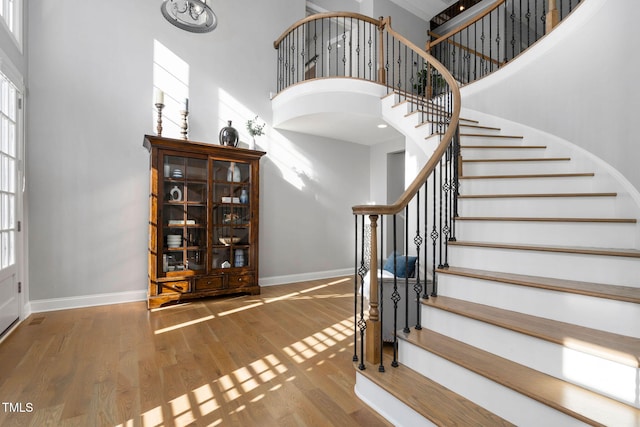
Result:
<svg viewBox="0 0 640 427">
<path fill-rule="evenodd" d="M 402 193 L 400 198 L 391 205 L 358 205 L 352 208 L 355 215 L 394 215 L 403 210 L 413 199 L 416 193 L 420 190 L 420 187 L 427 181 L 427 178 L 434 171 L 442 156 L 444 156 L 449 143 L 453 139 L 453 136 L 458 127 L 458 119 L 460 117 L 460 89 L 458 83 L 453 78 L 449 70 L 446 69 L 437 59 L 428 53 L 421 50 L 418 46 L 409 41 L 406 37 L 401 36 L 391 28 L 391 21 L 389 18 L 385 18 L 382 21 L 382 25 L 386 27 L 386 30 L 394 36 L 396 39 L 404 43 L 406 46 L 415 51 L 418 55 L 422 56 L 426 62 L 434 67 L 444 77 L 445 81 L 451 88 L 453 94 L 453 111 L 451 112 L 451 122 L 447 131 L 442 136 L 440 144 L 436 147 L 435 151 L 427 161 L 426 165 L 422 168 L 420 173 L 415 177 L 413 182 Z"/>
</svg>

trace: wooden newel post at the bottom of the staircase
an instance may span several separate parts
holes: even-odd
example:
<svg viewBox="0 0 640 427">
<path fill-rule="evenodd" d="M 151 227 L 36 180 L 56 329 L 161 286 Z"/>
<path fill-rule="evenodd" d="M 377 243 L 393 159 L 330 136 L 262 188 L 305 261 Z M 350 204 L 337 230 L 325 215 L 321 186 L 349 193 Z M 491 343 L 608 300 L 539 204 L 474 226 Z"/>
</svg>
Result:
<svg viewBox="0 0 640 427">
<path fill-rule="evenodd" d="M 381 361 L 381 338 L 382 328 L 380 326 L 380 312 L 378 310 L 378 215 L 369 215 L 371 222 L 371 261 L 370 261 L 370 282 L 369 282 L 369 319 L 366 329 L 366 355 L 365 360 L 371 364 L 379 364 Z"/>
</svg>

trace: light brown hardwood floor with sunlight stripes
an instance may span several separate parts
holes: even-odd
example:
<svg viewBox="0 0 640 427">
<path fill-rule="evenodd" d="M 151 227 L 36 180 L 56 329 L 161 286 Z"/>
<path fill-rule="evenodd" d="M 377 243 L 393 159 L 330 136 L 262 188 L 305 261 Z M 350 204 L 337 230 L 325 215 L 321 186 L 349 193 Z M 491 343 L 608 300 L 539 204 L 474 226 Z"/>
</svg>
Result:
<svg viewBox="0 0 640 427">
<path fill-rule="evenodd" d="M 0 425 L 389 425 L 353 391 L 352 298 L 338 278 L 33 314 L 0 344 Z"/>
</svg>

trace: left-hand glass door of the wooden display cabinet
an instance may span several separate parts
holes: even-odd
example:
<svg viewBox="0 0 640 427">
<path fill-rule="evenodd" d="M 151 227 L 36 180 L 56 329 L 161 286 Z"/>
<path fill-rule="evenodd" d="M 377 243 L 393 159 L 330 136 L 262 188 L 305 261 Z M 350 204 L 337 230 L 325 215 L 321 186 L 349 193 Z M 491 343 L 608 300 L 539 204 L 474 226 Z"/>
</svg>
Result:
<svg viewBox="0 0 640 427">
<path fill-rule="evenodd" d="M 159 271 L 171 276 L 206 270 L 208 160 L 173 155 L 162 158 Z"/>
</svg>

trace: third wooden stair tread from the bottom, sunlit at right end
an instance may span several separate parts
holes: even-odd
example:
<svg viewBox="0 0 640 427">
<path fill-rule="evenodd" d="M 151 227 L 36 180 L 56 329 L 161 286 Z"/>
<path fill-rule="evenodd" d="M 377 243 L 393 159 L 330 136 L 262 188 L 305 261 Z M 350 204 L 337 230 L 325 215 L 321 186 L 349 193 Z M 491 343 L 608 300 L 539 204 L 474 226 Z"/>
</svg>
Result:
<svg viewBox="0 0 640 427">
<path fill-rule="evenodd" d="M 640 367 L 640 338 L 445 296 L 422 300 L 422 303 L 603 359 Z"/>
</svg>

